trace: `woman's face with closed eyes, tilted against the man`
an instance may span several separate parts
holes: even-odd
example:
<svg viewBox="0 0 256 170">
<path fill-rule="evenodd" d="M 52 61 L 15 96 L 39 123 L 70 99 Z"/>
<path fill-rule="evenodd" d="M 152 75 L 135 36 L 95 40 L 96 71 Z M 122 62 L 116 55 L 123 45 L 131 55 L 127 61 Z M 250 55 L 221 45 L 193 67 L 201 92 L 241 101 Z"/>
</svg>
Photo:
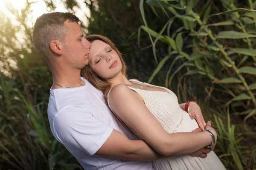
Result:
<svg viewBox="0 0 256 170">
<path fill-rule="evenodd" d="M 103 79 L 110 79 L 122 70 L 121 60 L 110 45 L 95 40 L 89 51 L 89 66 Z"/>
</svg>

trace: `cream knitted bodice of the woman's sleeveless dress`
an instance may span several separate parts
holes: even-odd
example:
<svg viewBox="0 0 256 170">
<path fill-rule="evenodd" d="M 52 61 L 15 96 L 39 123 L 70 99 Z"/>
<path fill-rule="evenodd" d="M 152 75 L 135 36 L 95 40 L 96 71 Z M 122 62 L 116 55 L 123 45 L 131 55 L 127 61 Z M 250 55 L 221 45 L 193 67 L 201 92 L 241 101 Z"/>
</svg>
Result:
<svg viewBox="0 0 256 170">
<path fill-rule="evenodd" d="M 140 82 L 135 79 L 130 79 L 130 81 L 137 82 L 137 83 L 144 84 L 151 87 L 163 88 L 169 92 L 167 93 L 163 91 L 148 91 L 148 90 L 143 90 L 139 88 L 128 87 L 131 90 L 140 94 L 140 96 L 144 100 L 146 107 L 161 123 L 164 130 L 166 130 L 168 133 L 175 133 L 183 122 L 183 113 L 184 113 L 184 111 L 179 106 L 177 96 L 168 88 L 164 88 L 156 85 L 150 85 L 148 83 Z M 108 92 L 108 96 L 109 96 L 109 93 L 110 91 Z M 108 106 L 111 109 L 111 111 L 115 114 L 115 112 L 112 110 L 111 106 L 109 105 L 109 99 L 108 99 Z M 123 122 L 117 115 L 116 117 L 121 122 Z M 131 130 L 131 131 L 133 133 L 136 133 L 134 130 Z"/>
</svg>

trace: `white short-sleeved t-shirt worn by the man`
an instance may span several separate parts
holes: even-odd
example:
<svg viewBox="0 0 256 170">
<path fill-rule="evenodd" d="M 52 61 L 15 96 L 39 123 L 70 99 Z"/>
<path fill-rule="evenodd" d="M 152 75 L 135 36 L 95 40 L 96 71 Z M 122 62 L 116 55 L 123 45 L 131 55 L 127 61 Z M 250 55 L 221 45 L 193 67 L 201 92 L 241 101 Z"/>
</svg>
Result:
<svg viewBox="0 0 256 170">
<path fill-rule="evenodd" d="M 137 140 L 114 116 L 101 91 L 86 79 L 78 88 L 50 90 L 48 118 L 55 138 L 86 170 L 153 170 L 151 161 L 128 161 L 94 155 L 113 129 Z"/>
</svg>

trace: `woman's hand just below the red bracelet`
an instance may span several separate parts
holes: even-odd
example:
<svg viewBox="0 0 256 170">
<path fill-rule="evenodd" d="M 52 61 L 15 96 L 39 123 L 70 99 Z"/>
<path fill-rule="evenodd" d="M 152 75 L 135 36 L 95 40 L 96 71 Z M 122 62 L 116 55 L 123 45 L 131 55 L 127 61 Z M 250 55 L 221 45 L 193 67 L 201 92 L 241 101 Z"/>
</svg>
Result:
<svg viewBox="0 0 256 170">
<path fill-rule="evenodd" d="M 196 102 L 190 102 L 188 113 L 191 119 L 195 119 L 198 122 L 199 127 L 204 130 L 205 122 L 202 115 L 200 106 Z"/>
</svg>

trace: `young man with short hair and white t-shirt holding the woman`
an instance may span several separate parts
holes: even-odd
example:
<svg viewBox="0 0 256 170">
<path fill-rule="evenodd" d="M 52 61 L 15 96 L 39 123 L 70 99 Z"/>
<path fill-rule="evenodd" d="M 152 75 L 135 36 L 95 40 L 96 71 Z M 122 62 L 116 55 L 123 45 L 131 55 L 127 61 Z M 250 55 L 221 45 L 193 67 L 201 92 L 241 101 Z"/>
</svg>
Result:
<svg viewBox="0 0 256 170">
<path fill-rule="evenodd" d="M 43 14 L 35 23 L 33 42 L 49 64 L 48 118 L 55 138 L 86 169 L 152 170 L 163 158 L 145 141 L 137 140 L 111 113 L 103 94 L 80 69 L 88 64 L 90 42 L 84 38 L 79 19 L 71 13 Z M 194 156 L 206 157 L 209 149 Z"/>
</svg>

